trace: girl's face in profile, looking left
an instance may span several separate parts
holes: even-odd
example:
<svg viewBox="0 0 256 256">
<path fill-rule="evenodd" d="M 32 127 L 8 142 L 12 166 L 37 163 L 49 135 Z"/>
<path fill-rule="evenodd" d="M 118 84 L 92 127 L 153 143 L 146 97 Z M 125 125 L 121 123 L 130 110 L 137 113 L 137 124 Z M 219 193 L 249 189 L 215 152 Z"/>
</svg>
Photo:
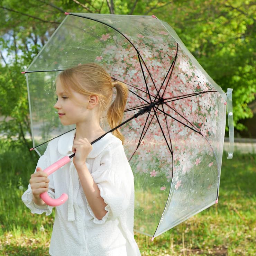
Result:
<svg viewBox="0 0 256 256">
<path fill-rule="evenodd" d="M 61 119 L 63 125 L 73 125 L 85 122 L 88 120 L 89 111 L 88 111 L 88 101 L 89 97 L 75 91 L 72 91 L 72 95 L 67 93 L 60 79 L 57 79 L 56 82 L 56 94 L 57 102 L 54 105 L 54 108 L 58 111 L 58 116 Z"/>
</svg>

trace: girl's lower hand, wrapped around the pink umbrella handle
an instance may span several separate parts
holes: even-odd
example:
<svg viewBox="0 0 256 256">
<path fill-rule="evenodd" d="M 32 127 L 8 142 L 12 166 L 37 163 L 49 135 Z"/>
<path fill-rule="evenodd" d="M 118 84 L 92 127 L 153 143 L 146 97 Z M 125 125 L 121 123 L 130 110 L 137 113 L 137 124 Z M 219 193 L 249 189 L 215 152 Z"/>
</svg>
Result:
<svg viewBox="0 0 256 256">
<path fill-rule="evenodd" d="M 36 172 L 31 175 L 29 183 L 33 193 L 33 201 L 38 205 L 42 204 L 43 200 L 40 198 L 40 194 L 47 192 L 49 187 L 47 174 L 40 167 L 37 167 Z"/>
</svg>

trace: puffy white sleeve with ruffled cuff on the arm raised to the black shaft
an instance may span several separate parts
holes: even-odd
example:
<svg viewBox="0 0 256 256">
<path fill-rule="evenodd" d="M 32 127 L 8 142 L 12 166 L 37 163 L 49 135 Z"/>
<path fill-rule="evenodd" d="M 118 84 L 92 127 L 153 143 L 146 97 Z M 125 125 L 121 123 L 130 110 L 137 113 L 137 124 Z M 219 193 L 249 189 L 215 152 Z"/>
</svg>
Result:
<svg viewBox="0 0 256 256">
<path fill-rule="evenodd" d="M 116 219 L 127 210 L 134 189 L 132 171 L 122 144 L 104 150 L 100 166 L 92 172 L 92 177 L 107 204 L 105 207 L 107 213 L 99 220 L 87 203 L 88 210 L 94 217 L 93 222 L 103 224 L 107 219 Z"/>
</svg>

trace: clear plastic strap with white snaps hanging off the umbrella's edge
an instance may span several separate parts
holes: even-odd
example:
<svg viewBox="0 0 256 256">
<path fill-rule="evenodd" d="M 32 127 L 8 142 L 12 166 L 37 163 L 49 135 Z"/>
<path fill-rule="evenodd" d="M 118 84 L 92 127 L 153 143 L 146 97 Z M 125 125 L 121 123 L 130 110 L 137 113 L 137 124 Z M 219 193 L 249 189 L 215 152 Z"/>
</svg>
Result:
<svg viewBox="0 0 256 256">
<path fill-rule="evenodd" d="M 229 130 L 229 147 L 228 158 L 233 158 L 234 153 L 234 121 L 233 121 L 233 107 L 232 107 L 232 91 L 227 90 L 227 111 L 228 111 L 228 130 Z"/>
</svg>

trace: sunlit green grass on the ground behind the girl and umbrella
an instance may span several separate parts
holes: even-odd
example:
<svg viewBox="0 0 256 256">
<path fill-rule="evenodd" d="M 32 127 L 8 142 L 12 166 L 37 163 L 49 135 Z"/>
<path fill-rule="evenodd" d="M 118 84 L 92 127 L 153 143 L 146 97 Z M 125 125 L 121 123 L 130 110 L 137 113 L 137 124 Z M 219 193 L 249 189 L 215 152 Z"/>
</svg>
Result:
<svg viewBox="0 0 256 256">
<path fill-rule="evenodd" d="M 21 201 L 36 157 L 0 142 L 0 255 L 48 255 L 54 213 Z M 219 203 L 156 237 L 135 233 L 141 255 L 256 255 L 255 154 L 222 161 Z"/>
</svg>

